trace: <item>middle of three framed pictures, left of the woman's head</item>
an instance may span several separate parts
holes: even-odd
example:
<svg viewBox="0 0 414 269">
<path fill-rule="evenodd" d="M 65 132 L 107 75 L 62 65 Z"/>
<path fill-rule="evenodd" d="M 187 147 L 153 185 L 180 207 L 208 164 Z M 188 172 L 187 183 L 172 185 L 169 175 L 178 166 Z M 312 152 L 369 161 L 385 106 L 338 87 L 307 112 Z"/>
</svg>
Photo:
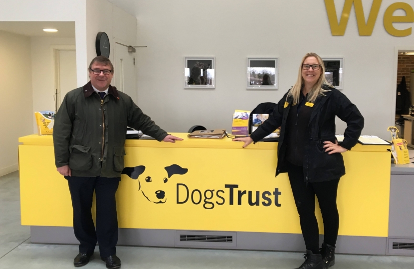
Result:
<svg viewBox="0 0 414 269">
<path fill-rule="evenodd" d="M 278 74 L 279 58 L 247 58 L 247 89 L 278 89 Z"/>
</svg>

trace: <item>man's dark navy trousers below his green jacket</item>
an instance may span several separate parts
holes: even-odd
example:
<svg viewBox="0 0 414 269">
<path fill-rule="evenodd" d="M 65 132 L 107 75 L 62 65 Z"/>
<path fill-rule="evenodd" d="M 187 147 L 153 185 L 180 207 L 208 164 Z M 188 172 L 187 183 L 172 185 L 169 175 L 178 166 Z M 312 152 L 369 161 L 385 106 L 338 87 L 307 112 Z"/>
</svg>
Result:
<svg viewBox="0 0 414 269">
<path fill-rule="evenodd" d="M 73 207 L 73 230 L 79 240 L 79 252 L 92 254 L 96 242 L 101 257 L 116 254 L 118 219 L 115 193 L 120 177 L 65 176 Z M 93 192 L 96 197 L 96 230 L 92 220 Z"/>
</svg>

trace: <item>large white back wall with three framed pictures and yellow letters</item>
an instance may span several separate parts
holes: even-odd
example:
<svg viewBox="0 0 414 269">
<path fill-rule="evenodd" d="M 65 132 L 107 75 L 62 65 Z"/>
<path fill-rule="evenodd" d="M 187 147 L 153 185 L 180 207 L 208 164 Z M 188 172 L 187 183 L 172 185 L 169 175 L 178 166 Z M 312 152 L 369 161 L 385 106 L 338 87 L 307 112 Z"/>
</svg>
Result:
<svg viewBox="0 0 414 269">
<path fill-rule="evenodd" d="M 363 2 L 367 18 L 372 0 Z M 334 37 L 322 0 L 138 0 L 137 40 L 148 45 L 136 53 L 138 105 L 169 132 L 187 132 L 196 124 L 230 130 L 235 109 L 277 103 L 295 83 L 303 55 L 316 52 L 345 57 L 343 93 L 366 119 L 363 134 L 389 138 L 395 47 L 414 47 L 414 34 L 394 37 L 383 26 L 394 2 L 383 0 L 372 36 L 359 36 L 353 8 L 345 35 Z M 335 4 L 342 12 L 344 0 Z M 185 56 L 216 57 L 215 90 L 184 89 Z M 246 90 L 248 56 L 279 57 L 279 90 Z M 344 128 L 340 123 L 337 133 Z"/>
</svg>

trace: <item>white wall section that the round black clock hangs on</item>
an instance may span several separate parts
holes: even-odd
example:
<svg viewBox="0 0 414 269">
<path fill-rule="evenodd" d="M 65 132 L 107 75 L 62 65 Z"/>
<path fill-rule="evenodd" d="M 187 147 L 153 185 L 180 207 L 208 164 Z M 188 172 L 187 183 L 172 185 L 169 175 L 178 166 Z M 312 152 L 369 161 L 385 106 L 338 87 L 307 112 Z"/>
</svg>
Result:
<svg viewBox="0 0 414 269">
<path fill-rule="evenodd" d="M 96 57 L 95 40 L 98 32 L 105 32 L 110 40 L 109 59 L 114 60 L 115 41 L 135 45 L 137 18 L 106 0 L 86 0 L 87 61 Z M 125 48 L 127 49 L 127 48 Z M 87 66 L 85 67 L 86 70 Z M 112 85 L 115 85 L 112 83 Z"/>
</svg>

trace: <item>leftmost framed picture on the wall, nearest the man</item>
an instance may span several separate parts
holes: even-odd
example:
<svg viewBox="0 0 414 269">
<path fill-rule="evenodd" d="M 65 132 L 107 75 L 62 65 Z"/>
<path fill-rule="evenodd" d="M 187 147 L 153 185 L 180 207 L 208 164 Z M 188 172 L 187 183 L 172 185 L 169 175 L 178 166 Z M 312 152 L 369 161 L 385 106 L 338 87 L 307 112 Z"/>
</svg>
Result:
<svg viewBox="0 0 414 269">
<path fill-rule="evenodd" d="M 185 57 L 184 59 L 184 88 L 215 88 L 214 57 Z"/>
</svg>

